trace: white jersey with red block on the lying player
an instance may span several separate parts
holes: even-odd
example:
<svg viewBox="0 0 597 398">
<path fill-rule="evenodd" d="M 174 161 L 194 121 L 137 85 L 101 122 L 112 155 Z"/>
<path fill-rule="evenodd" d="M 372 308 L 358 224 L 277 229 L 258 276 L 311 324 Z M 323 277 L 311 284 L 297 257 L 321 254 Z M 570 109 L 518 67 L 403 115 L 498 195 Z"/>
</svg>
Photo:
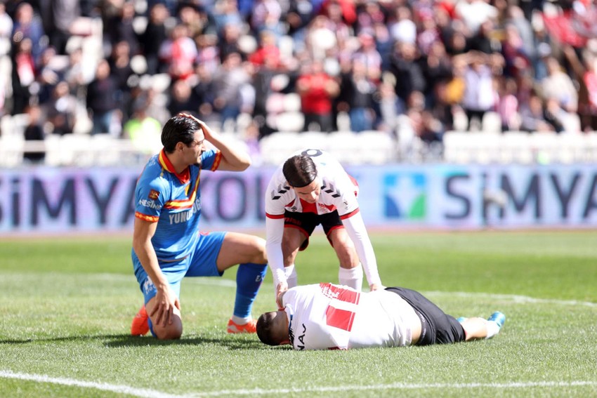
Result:
<svg viewBox="0 0 597 398">
<path fill-rule="evenodd" d="M 284 293 L 284 312 L 295 350 L 348 350 L 412 344 L 414 309 L 386 290 L 362 293 L 348 286 L 313 284 Z"/>
</svg>

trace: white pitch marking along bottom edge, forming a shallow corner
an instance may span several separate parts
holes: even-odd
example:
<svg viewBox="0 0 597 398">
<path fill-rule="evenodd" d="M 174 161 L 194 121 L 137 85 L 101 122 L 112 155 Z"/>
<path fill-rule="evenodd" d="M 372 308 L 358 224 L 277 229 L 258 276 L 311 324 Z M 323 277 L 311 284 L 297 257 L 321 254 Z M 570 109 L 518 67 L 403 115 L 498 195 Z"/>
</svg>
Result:
<svg viewBox="0 0 597 398">
<path fill-rule="evenodd" d="M 95 388 L 96 390 L 117 392 L 119 394 L 129 394 L 135 397 L 146 398 L 192 398 L 192 397 L 221 397 L 226 395 L 256 395 L 256 394 L 288 394 L 301 392 L 343 392 L 343 391 L 372 391 L 372 390 L 421 390 L 428 388 L 435 389 L 473 389 L 473 388 L 532 388 L 532 387 L 584 387 L 596 386 L 597 381 L 539 381 L 539 382 L 518 382 L 518 383 L 431 383 L 431 384 L 409 384 L 392 383 L 381 385 L 344 385 L 339 387 L 307 387 L 307 388 L 284 388 L 275 390 L 264 390 L 254 388 L 251 390 L 220 390 L 213 392 L 199 392 L 195 394 L 168 394 L 157 390 L 146 388 L 135 388 L 127 385 L 113 385 L 108 383 L 95 383 L 90 381 L 75 380 L 71 378 L 55 378 L 44 375 L 34 375 L 27 373 L 14 373 L 11 371 L 0 371 L 0 378 L 13 378 L 18 380 L 28 380 L 37 383 L 52 383 L 59 385 L 69 385 L 74 387 Z"/>
</svg>

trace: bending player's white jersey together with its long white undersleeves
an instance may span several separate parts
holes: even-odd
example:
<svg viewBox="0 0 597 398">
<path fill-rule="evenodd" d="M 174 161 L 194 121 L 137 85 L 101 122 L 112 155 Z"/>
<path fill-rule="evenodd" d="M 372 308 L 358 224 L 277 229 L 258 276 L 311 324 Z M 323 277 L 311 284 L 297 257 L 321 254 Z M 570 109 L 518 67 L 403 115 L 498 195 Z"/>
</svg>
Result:
<svg viewBox="0 0 597 398">
<path fill-rule="evenodd" d="M 280 282 L 287 281 L 284 274 L 282 254 L 284 211 L 312 212 L 316 214 L 338 211 L 342 224 L 355 245 L 355 250 L 362 263 L 369 286 L 372 284 L 381 286 L 373 246 L 359 211 L 356 181 L 327 152 L 303 150 L 294 153 L 292 156 L 297 154 L 306 154 L 313 159 L 317 169 L 317 179 L 321 183 L 321 192 L 314 204 L 309 204 L 297 197 L 296 192 L 284 178 L 283 164 L 277 168 L 270 180 L 268 189 L 265 191 L 265 248 L 268 253 L 268 263 L 272 270 L 274 285 L 278 286 Z"/>
</svg>

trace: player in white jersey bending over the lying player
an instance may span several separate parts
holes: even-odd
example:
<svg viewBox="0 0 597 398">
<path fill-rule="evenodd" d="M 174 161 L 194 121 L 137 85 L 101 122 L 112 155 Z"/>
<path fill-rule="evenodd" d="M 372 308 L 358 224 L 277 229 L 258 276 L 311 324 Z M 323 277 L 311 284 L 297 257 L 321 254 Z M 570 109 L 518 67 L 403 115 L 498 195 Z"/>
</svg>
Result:
<svg viewBox="0 0 597 398">
<path fill-rule="evenodd" d="M 373 246 L 359 211 L 358 185 L 339 162 L 321 150 L 296 152 L 277 168 L 265 192 L 265 232 L 276 299 L 296 286 L 294 260 L 322 225 L 340 262 L 340 284 L 383 288 Z M 362 265 L 362 267 L 361 267 Z"/>
</svg>

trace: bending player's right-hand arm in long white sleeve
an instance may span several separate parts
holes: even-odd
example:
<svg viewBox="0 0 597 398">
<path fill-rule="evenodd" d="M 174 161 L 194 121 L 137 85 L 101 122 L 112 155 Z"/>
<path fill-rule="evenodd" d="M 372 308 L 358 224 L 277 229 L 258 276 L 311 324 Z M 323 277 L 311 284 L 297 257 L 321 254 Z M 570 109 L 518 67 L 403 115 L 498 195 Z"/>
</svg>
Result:
<svg viewBox="0 0 597 398">
<path fill-rule="evenodd" d="M 377 270 L 377 260 L 373 251 L 373 245 L 369 239 L 369 234 L 367 234 L 367 228 L 365 228 L 365 222 L 362 220 L 361 213 L 357 209 L 352 213 L 341 215 L 340 218 L 346 228 L 346 232 L 348 232 L 348 236 L 355 245 L 355 250 L 359 255 L 363 270 L 365 270 L 369 289 L 374 291 L 383 288 Z"/>
</svg>

